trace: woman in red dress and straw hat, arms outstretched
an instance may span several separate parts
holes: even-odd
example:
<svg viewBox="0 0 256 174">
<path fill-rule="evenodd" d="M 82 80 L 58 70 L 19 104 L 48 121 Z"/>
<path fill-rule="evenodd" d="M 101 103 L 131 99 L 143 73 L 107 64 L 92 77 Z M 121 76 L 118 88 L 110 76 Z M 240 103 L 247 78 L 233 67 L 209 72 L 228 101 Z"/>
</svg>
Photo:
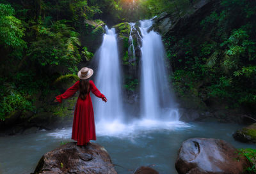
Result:
<svg viewBox="0 0 256 174">
<path fill-rule="evenodd" d="M 93 115 L 92 99 L 90 91 L 95 96 L 107 102 L 106 97 L 100 93 L 92 80 L 89 78 L 93 75 L 93 70 L 90 68 L 82 68 L 77 76 L 80 78 L 66 92 L 56 97 L 55 102 L 60 102 L 62 99 L 67 99 L 73 96 L 79 90 L 77 98 L 76 110 L 74 113 L 72 139 L 77 141 L 77 145 L 87 145 L 90 140 L 96 140 L 95 123 Z"/>
</svg>

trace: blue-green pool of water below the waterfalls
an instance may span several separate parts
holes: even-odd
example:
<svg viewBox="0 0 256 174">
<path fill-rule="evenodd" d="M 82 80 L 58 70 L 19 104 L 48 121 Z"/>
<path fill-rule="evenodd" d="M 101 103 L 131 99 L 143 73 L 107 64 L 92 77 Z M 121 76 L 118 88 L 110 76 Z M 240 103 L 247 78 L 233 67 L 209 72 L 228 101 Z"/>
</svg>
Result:
<svg viewBox="0 0 256 174">
<path fill-rule="evenodd" d="M 177 173 L 174 168 L 177 151 L 182 141 L 188 138 L 219 138 L 236 148 L 255 148 L 255 145 L 240 143 L 232 138 L 232 133 L 241 128 L 238 124 L 147 122 L 147 125 L 112 124 L 110 129 L 97 124 L 95 142 L 108 150 L 118 174 L 132 173 L 140 166 L 151 166 L 163 174 Z M 71 141 L 70 136 L 71 128 L 68 127 L 0 137 L 0 173 L 33 172 L 45 152 L 60 146 L 61 141 Z"/>
</svg>

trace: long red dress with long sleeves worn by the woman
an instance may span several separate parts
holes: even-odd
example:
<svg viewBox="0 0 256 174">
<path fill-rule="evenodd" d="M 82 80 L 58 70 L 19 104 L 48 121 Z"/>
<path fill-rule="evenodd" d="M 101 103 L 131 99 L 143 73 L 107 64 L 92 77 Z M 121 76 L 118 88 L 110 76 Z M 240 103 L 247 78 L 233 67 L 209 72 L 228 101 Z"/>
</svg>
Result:
<svg viewBox="0 0 256 174">
<path fill-rule="evenodd" d="M 104 98 L 104 95 L 100 93 L 92 80 L 90 82 L 89 91 L 98 98 Z M 72 87 L 67 89 L 66 92 L 56 97 L 61 103 L 62 99 L 67 99 L 73 96 L 77 90 L 79 90 L 79 83 L 77 81 Z M 76 110 L 74 113 L 73 127 L 72 127 L 72 139 L 77 141 L 77 145 L 86 145 L 90 140 L 96 140 L 95 123 L 92 99 L 90 92 L 87 94 L 86 99 L 77 98 Z"/>
</svg>

